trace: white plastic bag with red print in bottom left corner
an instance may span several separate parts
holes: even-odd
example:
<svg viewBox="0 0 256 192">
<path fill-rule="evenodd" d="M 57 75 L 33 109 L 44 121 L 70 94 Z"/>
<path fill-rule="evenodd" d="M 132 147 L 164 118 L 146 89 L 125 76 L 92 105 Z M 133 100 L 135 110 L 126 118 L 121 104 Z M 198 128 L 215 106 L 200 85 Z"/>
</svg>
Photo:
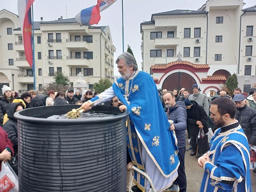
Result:
<svg viewBox="0 0 256 192">
<path fill-rule="evenodd" d="M 18 177 L 13 172 L 10 164 L 4 162 L 2 162 L 2 170 L 0 172 L 0 191 L 19 192 Z"/>
</svg>

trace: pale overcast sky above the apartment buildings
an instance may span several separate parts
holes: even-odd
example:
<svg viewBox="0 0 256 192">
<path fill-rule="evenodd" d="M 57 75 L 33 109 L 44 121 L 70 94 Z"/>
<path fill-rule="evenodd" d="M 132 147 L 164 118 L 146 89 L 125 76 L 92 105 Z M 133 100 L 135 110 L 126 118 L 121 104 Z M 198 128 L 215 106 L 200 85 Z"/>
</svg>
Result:
<svg viewBox="0 0 256 192">
<path fill-rule="evenodd" d="M 18 15 L 18 0 L 0 0 L 0 10 L 6 9 Z M 223 0 L 228 1 L 228 0 Z M 124 0 L 124 50 L 131 46 L 139 68 L 141 58 L 140 23 L 151 19 L 152 13 L 168 12 L 171 10 L 198 10 L 206 0 Z M 255 0 L 244 0 L 244 8 L 255 5 Z M 35 0 L 34 20 L 45 21 L 74 18 L 82 9 L 97 4 L 97 0 Z M 67 8 L 67 11 L 66 11 Z M 109 26 L 113 44 L 116 47 L 115 58 L 122 54 L 122 0 L 117 0 L 108 9 L 100 13 L 98 26 Z M 97 25 L 96 25 L 97 26 Z M 118 75 L 115 68 L 115 75 Z"/>
</svg>

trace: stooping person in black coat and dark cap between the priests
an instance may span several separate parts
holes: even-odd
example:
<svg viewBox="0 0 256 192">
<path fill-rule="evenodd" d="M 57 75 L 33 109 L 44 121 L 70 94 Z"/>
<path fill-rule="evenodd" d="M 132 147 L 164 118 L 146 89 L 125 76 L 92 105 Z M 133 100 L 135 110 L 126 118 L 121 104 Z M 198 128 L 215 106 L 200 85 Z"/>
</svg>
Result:
<svg viewBox="0 0 256 192">
<path fill-rule="evenodd" d="M 204 134 L 209 131 L 207 127 L 207 114 L 204 108 L 198 105 L 195 100 L 185 99 L 184 103 L 187 109 L 187 129 L 192 145 L 192 152 L 190 156 L 196 156 L 196 138 L 200 129 L 204 130 Z"/>
</svg>

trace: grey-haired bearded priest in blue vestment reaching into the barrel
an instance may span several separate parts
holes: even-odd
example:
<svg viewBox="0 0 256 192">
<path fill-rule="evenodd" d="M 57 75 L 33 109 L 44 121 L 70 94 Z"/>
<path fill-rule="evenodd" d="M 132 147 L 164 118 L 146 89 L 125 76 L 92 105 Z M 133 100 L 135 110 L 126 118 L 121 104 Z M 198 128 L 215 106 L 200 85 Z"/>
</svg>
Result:
<svg viewBox="0 0 256 192">
<path fill-rule="evenodd" d="M 129 52 L 121 54 L 116 64 L 122 77 L 108 90 L 88 102 L 84 110 L 91 109 L 113 97 L 124 104 L 120 110 L 128 110 L 127 147 L 134 166 L 146 172 L 157 191 L 172 185 L 177 178 L 179 150 L 177 140 L 170 130 L 170 122 L 164 113 L 154 79 L 146 72 L 138 70 L 134 56 Z M 148 191 L 147 179 L 135 172 L 134 182 L 142 191 Z"/>
</svg>

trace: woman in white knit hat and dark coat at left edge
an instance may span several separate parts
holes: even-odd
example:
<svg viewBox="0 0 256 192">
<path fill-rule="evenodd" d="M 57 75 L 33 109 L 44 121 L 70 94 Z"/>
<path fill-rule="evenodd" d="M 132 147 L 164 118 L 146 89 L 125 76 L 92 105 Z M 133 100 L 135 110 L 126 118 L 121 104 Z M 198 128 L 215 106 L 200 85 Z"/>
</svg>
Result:
<svg viewBox="0 0 256 192">
<path fill-rule="evenodd" d="M 7 106 L 12 103 L 12 89 L 8 86 L 3 86 L 2 88 L 3 99 L 0 100 L 0 126 L 3 125 L 3 118 L 6 113 Z"/>
</svg>

